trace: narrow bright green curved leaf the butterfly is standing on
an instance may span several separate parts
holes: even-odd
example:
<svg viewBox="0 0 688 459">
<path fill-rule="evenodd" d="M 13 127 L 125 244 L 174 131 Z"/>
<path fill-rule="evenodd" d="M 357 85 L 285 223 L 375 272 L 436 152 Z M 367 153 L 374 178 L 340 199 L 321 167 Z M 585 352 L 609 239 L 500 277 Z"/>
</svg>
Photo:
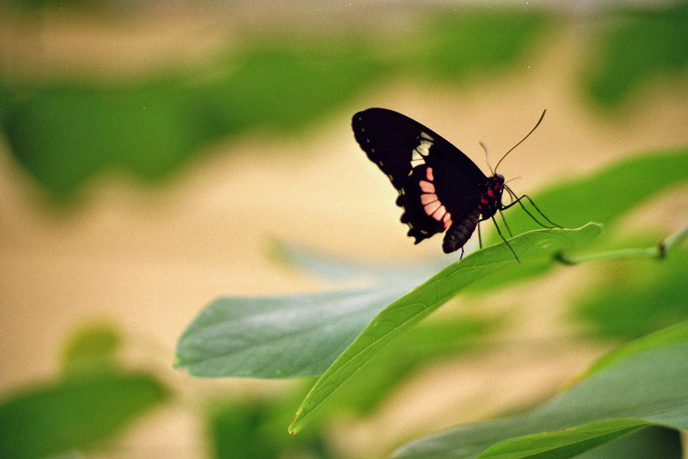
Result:
<svg viewBox="0 0 688 459">
<path fill-rule="evenodd" d="M 521 259 L 551 257 L 560 250 L 590 241 L 600 231 L 601 226 L 591 223 L 575 230 L 531 231 L 513 237 L 509 243 Z M 290 431 L 295 433 L 308 423 L 309 418 L 332 392 L 402 330 L 442 306 L 475 279 L 510 264 L 517 264 L 517 261 L 504 242 L 484 248 L 444 268 L 424 284 L 387 306 L 316 381 L 301 403 Z"/>
</svg>

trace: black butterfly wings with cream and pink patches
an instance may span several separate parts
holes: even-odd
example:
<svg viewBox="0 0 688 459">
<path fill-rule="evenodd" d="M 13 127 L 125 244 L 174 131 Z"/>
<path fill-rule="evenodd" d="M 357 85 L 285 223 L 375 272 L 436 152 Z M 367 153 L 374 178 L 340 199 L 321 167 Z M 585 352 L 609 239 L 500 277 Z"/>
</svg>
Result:
<svg viewBox="0 0 688 459">
<path fill-rule="evenodd" d="M 356 141 L 399 192 L 401 221 L 416 244 L 477 207 L 486 176 L 462 151 L 396 111 L 372 108 L 352 120 Z"/>
</svg>

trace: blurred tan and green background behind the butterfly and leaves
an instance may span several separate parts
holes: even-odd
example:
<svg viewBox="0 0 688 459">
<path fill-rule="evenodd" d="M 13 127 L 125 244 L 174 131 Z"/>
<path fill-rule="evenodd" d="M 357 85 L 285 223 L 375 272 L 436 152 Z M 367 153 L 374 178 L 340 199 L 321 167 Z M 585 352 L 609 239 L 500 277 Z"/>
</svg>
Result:
<svg viewBox="0 0 688 459">
<path fill-rule="evenodd" d="M 286 431 L 308 383 L 171 363 L 215 297 L 336 286 L 275 259 L 275 241 L 380 265 L 443 256 L 406 237 L 356 111 L 407 114 L 488 172 L 479 142 L 494 165 L 547 109 L 500 165 L 532 194 L 688 145 L 687 83 L 686 2 L 0 3 L 0 393 L 52 381 L 96 323 L 171 395 L 87 457 L 380 457 L 537 403 L 627 338 L 562 319 L 594 267 L 447 305 L 501 317 L 505 344 L 413 370 L 308 440 Z M 687 191 L 618 226 L 671 232 Z"/>
</svg>

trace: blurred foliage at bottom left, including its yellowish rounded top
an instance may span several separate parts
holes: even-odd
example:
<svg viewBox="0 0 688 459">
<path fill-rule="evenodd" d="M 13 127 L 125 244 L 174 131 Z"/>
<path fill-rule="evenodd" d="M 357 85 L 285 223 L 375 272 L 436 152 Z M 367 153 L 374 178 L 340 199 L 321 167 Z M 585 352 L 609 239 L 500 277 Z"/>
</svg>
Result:
<svg viewBox="0 0 688 459">
<path fill-rule="evenodd" d="M 0 457 L 44 458 L 92 448 L 168 398 L 154 376 L 93 358 L 111 357 L 119 341 L 105 325 L 85 328 L 65 351 L 63 376 L 3 394 Z M 88 343 L 96 348 L 85 349 Z M 81 358 L 85 354 L 88 359 Z"/>
</svg>

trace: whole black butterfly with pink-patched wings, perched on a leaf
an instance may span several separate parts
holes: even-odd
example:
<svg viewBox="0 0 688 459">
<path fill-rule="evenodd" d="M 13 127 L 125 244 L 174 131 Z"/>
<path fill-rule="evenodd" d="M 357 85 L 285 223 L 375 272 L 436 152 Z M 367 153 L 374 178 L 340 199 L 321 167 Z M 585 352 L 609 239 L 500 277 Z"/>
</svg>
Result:
<svg viewBox="0 0 688 459">
<path fill-rule="evenodd" d="M 535 131 L 544 115 L 543 111 L 528 136 Z M 516 203 L 540 226 L 550 228 L 528 212 L 521 200 L 525 198 L 530 204 L 533 201 L 527 195 L 517 198 L 504 184 L 502 174 L 487 177 L 462 151 L 408 116 L 388 109 L 371 108 L 355 114 L 352 127 L 356 141 L 368 158 L 387 174 L 399 192 L 396 204 L 404 209 L 401 221 L 409 225 L 408 235 L 416 238 L 416 244 L 447 230 L 442 250 L 451 253 L 460 248 L 463 256 L 463 246 L 478 222 L 490 218 L 497 226 L 495 213 L 501 213 L 502 209 Z M 502 160 L 521 142 L 507 151 Z M 513 198 L 506 206 L 502 204 L 505 189 Z M 547 222 L 559 226 L 550 222 L 535 204 L 533 207 Z M 508 226 L 506 228 L 508 230 Z M 502 236 L 499 226 L 497 231 Z M 478 233 L 480 235 L 480 226 Z M 508 242 L 506 244 L 518 259 L 513 248 Z"/>
</svg>

